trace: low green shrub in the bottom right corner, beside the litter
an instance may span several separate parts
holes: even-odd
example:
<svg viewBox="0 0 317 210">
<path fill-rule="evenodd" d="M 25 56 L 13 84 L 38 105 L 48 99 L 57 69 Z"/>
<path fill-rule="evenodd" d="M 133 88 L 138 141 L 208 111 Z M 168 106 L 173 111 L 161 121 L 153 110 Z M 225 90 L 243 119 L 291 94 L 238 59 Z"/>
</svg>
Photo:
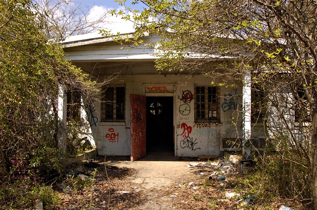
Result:
<svg viewBox="0 0 317 210">
<path fill-rule="evenodd" d="M 296 204 L 297 210 L 313 208 L 308 163 L 295 152 L 261 157 L 256 170 L 241 179 L 241 183 L 249 187 L 248 193 L 257 198 L 257 203 Z"/>
</svg>

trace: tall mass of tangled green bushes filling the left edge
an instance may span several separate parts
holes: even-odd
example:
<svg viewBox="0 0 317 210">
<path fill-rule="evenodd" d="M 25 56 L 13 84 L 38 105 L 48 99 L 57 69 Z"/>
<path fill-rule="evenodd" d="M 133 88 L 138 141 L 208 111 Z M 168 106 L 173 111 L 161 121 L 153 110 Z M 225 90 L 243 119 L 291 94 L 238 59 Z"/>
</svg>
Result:
<svg viewBox="0 0 317 210">
<path fill-rule="evenodd" d="M 94 82 L 63 58 L 61 46 L 48 41 L 32 6 L 31 0 L 0 0 L 0 185 L 1 199 L 12 209 L 33 206 L 34 198 L 57 202 L 43 184 L 63 171 L 66 155 L 57 138 L 58 95 L 76 89 L 89 99 L 97 92 Z M 23 166 L 14 168 L 20 161 Z M 32 182 L 13 183 L 16 176 Z"/>
</svg>

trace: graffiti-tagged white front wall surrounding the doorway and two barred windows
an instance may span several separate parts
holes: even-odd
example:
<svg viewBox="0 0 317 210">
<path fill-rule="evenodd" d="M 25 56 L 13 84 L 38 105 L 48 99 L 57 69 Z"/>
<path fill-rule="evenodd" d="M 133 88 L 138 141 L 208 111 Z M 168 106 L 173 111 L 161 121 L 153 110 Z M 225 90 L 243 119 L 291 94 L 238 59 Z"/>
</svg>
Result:
<svg viewBox="0 0 317 210">
<path fill-rule="evenodd" d="M 101 78 L 102 81 L 108 77 Z M 225 103 L 236 103 L 241 108 L 242 89 L 220 86 L 220 123 L 195 123 L 194 99 L 190 103 L 182 100 L 183 91 L 195 94 L 196 85 L 209 85 L 211 79 L 203 76 L 188 77 L 188 75 L 122 75 L 111 81 L 111 84 L 125 84 L 126 87 L 126 120 L 124 123 L 100 122 L 100 103 L 95 103 L 97 124 L 91 126 L 95 132 L 96 146 L 99 155 L 130 155 L 130 94 L 146 96 L 173 96 L 174 99 L 174 154 L 175 156 L 197 157 L 199 155 L 220 155 L 220 140 L 222 137 L 235 138 L 237 127 L 242 125 L 240 113 L 233 106 L 221 106 Z M 111 85 L 109 84 L 109 85 Z M 145 85 L 173 85 L 172 93 L 146 93 Z M 195 96 L 194 96 L 195 97 Z M 230 100 L 230 101 L 229 101 Z M 190 111 L 184 113 L 188 107 Z M 240 133 L 239 133 L 240 132 Z M 97 134 L 96 134 L 97 133 Z M 238 129 L 241 135 L 241 129 Z"/>
</svg>

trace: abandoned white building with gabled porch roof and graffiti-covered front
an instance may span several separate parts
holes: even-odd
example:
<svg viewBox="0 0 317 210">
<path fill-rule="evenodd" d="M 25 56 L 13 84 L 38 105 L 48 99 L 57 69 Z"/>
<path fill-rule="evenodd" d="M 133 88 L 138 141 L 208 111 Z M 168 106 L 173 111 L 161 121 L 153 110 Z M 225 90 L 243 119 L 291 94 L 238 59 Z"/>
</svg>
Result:
<svg viewBox="0 0 317 210">
<path fill-rule="evenodd" d="M 147 34 L 144 42 L 159 39 Z M 90 126 L 85 135 L 99 155 L 131 155 L 132 161 L 154 153 L 219 156 L 234 149 L 227 140 L 257 139 L 258 146 L 264 141 L 251 109 L 244 110 L 238 126 L 232 124 L 237 110 L 251 106 L 250 86 L 214 86 L 202 72 L 159 72 L 155 49 L 121 49 L 100 35 L 74 36 L 62 45 L 66 58 L 84 73 L 109 81 L 100 101 L 82 106 Z"/>
</svg>

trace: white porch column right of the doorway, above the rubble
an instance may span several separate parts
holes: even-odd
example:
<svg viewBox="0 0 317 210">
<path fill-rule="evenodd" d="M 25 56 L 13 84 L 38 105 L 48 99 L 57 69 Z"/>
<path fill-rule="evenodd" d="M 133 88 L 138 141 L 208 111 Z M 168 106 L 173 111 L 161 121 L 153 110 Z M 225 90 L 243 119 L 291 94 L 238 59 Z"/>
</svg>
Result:
<svg viewBox="0 0 317 210">
<path fill-rule="evenodd" d="M 242 153 L 243 155 L 250 155 L 250 144 L 246 144 L 251 140 L 251 72 L 250 69 L 245 70 L 244 84 L 242 89 L 243 102 L 243 140 Z"/>
</svg>

